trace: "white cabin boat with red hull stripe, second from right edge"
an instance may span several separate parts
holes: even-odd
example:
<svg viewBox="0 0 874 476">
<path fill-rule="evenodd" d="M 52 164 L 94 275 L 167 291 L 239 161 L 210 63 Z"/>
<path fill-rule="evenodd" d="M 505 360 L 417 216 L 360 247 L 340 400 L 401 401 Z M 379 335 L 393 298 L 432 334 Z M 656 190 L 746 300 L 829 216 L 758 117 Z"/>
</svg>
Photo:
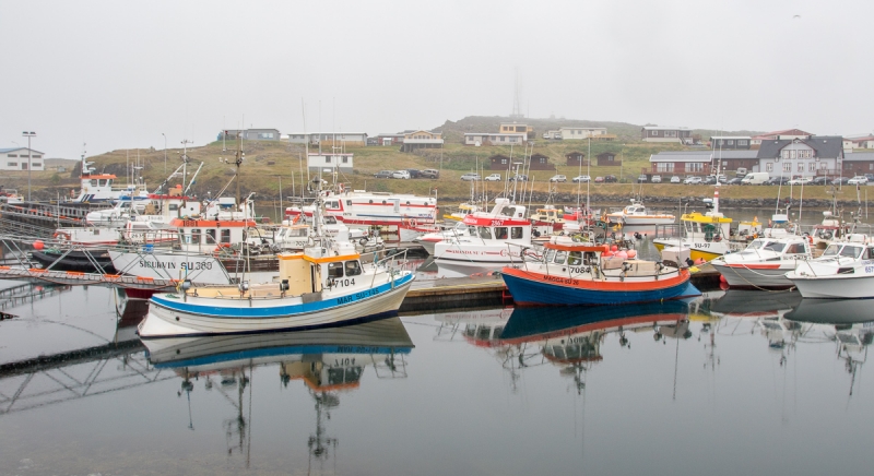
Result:
<svg viewBox="0 0 874 476">
<path fill-rule="evenodd" d="M 788 288 L 793 284 L 786 273 L 799 260 L 813 258 L 810 237 L 783 235 L 771 237 L 767 229 L 743 251 L 722 255 L 710 262 L 731 287 Z"/>
</svg>

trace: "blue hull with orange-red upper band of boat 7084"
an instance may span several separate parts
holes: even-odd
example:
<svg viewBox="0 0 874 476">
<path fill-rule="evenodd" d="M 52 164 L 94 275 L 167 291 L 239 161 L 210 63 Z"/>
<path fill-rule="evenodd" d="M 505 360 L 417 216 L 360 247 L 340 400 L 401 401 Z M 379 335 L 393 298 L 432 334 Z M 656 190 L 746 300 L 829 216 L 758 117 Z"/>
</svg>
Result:
<svg viewBox="0 0 874 476">
<path fill-rule="evenodd" d="M 700 295 L 689 283 L 689 273 L 686 270 L 682 270 L 675 277 L 663 279 L 599 282 L 505 267 L 501 277 L 513 302 L 519 306 L 627 305 Z M 565 284 L 568 281 L 574 284 Z"/>
</svg>

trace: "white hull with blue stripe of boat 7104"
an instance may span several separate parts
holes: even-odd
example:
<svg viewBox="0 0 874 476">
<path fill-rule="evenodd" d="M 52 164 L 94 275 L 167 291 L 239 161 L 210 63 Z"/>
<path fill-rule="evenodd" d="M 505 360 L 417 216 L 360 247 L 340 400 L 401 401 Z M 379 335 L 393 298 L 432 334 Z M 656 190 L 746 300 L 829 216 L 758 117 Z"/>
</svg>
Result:
<svg viewBox="0 0 874 476">
<path fill-rule="evenodd" d="M 248 334 L 364 322 L 395 313 L 412 282 L 413 275 L 408 274 L 393 283 L 312 302 L 299 298 L 182 300 L 175 295 L 155 295 L 140 324 L 140 337 Z"/>
</svg>

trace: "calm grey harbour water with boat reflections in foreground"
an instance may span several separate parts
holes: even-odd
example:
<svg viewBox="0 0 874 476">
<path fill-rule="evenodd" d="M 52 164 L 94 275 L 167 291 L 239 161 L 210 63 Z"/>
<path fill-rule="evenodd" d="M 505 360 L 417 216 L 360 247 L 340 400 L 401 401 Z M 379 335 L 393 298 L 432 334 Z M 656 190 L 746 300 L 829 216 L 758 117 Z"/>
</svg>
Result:
<svg viewBox="0 0 874 476">
<path fill-rule="evenodd" d="M 0 288 L 2 311 L 19 316 L 0 321 L 0 475 L 871 466 L 867 301 L 713 291 L 402 316 L 147 353 L 132 333 L 142 302 L 102 287 Z"/>
</svg>

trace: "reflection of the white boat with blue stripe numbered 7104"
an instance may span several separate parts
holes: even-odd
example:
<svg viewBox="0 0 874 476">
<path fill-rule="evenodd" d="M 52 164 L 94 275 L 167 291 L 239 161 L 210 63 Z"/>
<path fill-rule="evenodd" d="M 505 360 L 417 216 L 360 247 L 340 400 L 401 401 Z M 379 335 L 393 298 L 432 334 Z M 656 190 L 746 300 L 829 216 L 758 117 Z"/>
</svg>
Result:
<svg viewBox="0 0 874 476">
<path fill-rule="evenodd" d="M 327 435 L 324 421 L 330 419 L 330 410 L 340 405 L 340 393 L 357 389 L 367 367 L 374 367 L 380 379 L 405 378 L 405 355 L 414 347 L 397 317 L 330 329 L 160 338 L 146 340 L 143 344 L 155 368 L 173 369 L 182 378 L 181 386 L 186 393 L 193 390 L 192 379 L 203 379 L 208 390 L 217 384 L 220 391 L 232 400 L 237 414 L 224 421 L 229 445 L 227 452 L 245 454 L 247 467 L 251 441 L 247 438 L 251 389 L 248 404 L 245 390 L 256 367 L 279 364 L 279 378 L 283 385 L 300 380 L 307 386 L 316 404 L 316 431 L 310 435 L 307 447 L 310 459 L 323 462 L 338 445 L 338 439 Z M 229 395 L 234 388 L 236 402 Z M 248 412 L 244 412 L 247 405 Z M 190 396 L 189 428 L 193 429 Z M 231 436 L 237 437 L 233 445 Z"/>
</svg>

